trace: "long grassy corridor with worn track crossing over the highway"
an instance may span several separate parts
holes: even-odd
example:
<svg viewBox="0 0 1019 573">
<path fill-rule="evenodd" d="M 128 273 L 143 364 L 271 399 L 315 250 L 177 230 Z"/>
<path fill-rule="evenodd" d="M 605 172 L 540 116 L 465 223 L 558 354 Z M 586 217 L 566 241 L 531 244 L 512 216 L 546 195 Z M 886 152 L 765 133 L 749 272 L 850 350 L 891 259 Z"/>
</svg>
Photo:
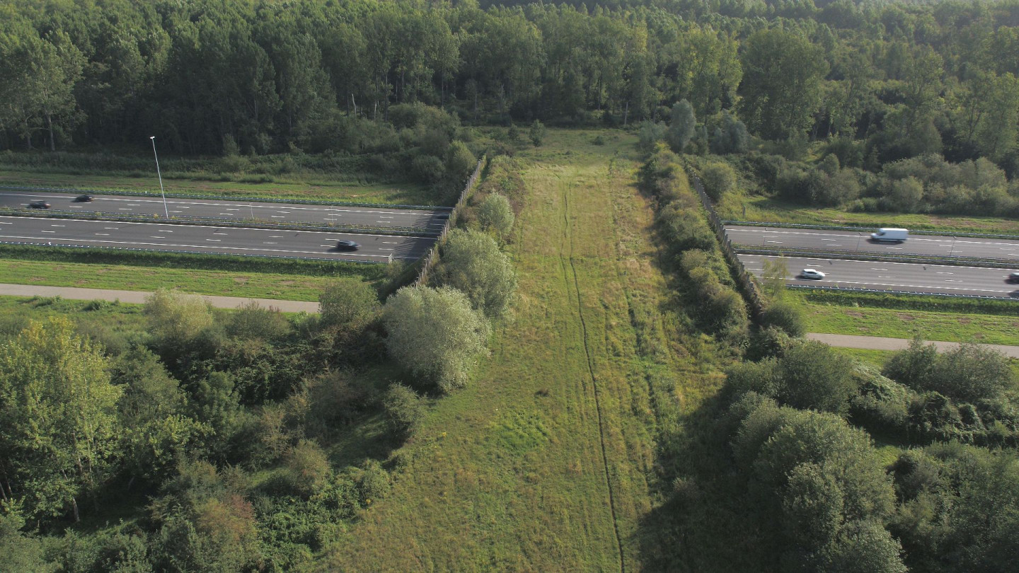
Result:
<svg viewBox="0 0 1019 573">
<path fill-rule="evenodd" d="M 641 569 L 657 421 L 678 410 L 675 372 L 691 359 L 663 334 L 632 141 L 593 137 L 556 131 L 521 154 L 515 314 L 472 385 L 439 400 L 397 453 L 392 492 L 326 567 Z"/>
</svg>

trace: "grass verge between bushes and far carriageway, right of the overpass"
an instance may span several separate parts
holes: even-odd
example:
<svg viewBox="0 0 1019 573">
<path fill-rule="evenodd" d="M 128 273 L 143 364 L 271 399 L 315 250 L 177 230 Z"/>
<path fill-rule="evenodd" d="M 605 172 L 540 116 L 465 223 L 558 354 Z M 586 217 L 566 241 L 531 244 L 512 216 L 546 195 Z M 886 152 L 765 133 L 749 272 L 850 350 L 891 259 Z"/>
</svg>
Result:
<svg viewBox="0 0 1019 573">
<path fill-rule="evenodd" d="M 743 210 L 746 208 L 746 215 Z M 1019 220 L 964 215 L 919 213 L 852 213 L 840 209 L 805 207 L 760 196 L 734 192 L 716 205 L 723 219 L 816 225 L 895 226 L 955 232 L 1019 235 Z"/>
</svg>

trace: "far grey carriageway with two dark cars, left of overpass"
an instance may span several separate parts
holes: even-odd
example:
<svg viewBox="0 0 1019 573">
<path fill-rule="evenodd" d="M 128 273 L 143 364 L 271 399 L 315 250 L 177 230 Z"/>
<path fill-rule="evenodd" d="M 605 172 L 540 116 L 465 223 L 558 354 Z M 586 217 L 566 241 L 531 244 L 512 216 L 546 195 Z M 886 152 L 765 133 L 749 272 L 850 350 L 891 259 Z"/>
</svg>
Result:
<svg viewBox="0 0 1019 573">
<path fill-rule="evenodd" d="M 299 205 L 294 203 L 259 203 L 257 201 L 219 201 L 211 199 L 166 199 L 117 195 L 93 195 L 90 203 L 74 201 L 77 195 L 0 191 L 0 207 L 25 208 L 33 201 L 45 201 L 59 211 L 102 212 L 120 215 L 160 215 L 171 217 L 211 217 L 258 219 L 274 222 L 304 222 L 323 225 L 404 226 L 441 230 L 442 215 L 448 211 L 340 207 L 335 205 Z"/>
</svg>

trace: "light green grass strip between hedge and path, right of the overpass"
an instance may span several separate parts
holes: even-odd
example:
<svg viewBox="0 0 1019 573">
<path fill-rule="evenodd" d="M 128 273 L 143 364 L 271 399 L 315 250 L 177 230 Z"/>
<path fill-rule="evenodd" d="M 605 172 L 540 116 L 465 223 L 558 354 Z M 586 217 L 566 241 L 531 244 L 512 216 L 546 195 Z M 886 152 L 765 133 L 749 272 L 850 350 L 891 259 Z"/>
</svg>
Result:
<svg viewBox="0 0 1019 573">
<path fill-rule="evenodd" d="M 1019 345 L 1019 318 L 883 308 L 805 305 L 811 332 Z"/>
</svg>

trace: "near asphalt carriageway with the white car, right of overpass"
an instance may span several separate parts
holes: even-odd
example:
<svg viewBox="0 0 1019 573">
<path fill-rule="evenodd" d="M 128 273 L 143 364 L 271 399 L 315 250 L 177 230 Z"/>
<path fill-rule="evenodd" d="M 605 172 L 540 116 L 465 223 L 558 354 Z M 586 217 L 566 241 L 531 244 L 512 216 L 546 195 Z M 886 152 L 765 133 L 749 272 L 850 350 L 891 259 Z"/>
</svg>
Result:
<svg viewBox="0 0 1019 573">
<path fill-rule="evenodd" d="M 747 270 L 757 276 L 763 274 L 764 259 L 779 258 L 759 255 L 739 257 Z M 1006 282 L 1014 269 L 811 258 L 787 258 L 786 267 L 790 271 L 786 277 L 790 284 L 1019 298 L 1019 284 Z M 804 268 L 819 270 L 825 277 L 820 280 L 799 278 Z"/>
</svg>

